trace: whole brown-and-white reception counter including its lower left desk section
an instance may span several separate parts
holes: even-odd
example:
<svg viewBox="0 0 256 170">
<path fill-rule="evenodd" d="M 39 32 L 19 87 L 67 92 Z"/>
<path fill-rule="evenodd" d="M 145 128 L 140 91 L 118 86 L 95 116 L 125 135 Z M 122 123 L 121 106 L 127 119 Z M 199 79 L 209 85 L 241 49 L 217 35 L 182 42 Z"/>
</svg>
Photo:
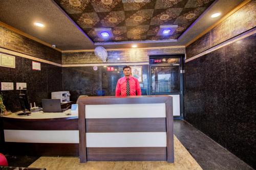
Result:
<svg viewBox="0 0 256 170">
<path fill-rule="evenodd" d="M 78 113 L 67 113 L 1 117 L 5 150 L 79 156 L 80 162 L 174 162 L 172 96 L 84 97 L 78 100 Z"/>
</svg>

